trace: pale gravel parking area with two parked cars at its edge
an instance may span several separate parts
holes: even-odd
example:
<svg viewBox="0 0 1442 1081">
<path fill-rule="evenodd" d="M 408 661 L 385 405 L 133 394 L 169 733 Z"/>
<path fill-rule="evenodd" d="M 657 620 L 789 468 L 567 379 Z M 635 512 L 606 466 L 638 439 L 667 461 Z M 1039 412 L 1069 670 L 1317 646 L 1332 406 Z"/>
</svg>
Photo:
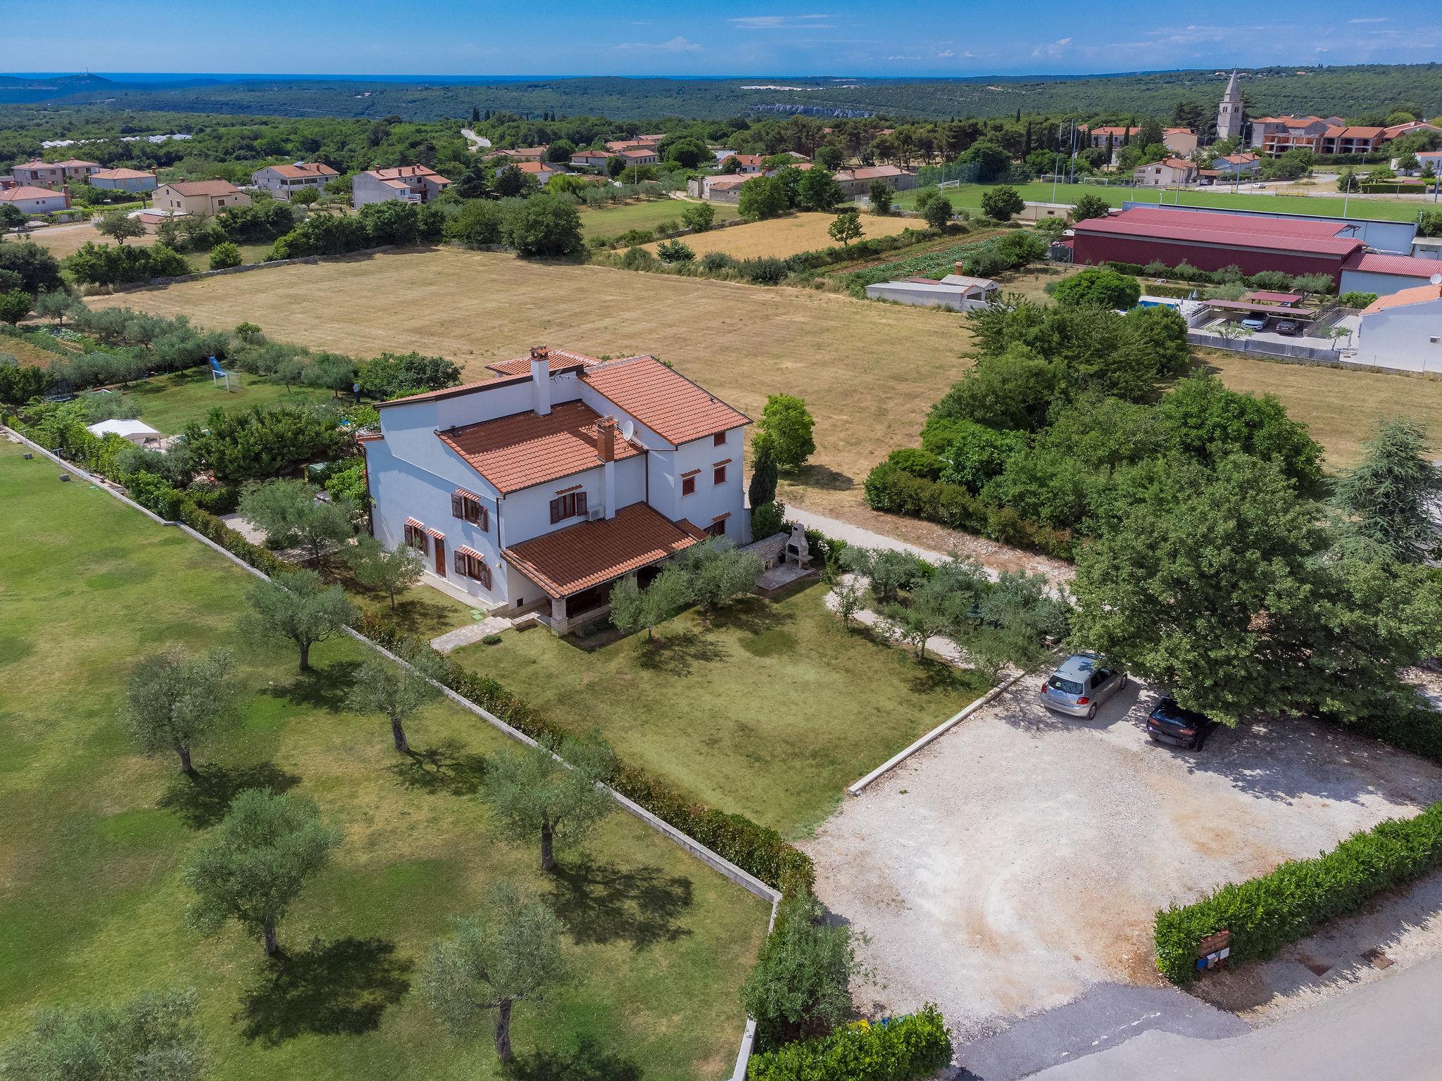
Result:
<svg viewBox="0 0 1442 1081">
<path fill-rule="evenodd" d="M 878 1009 L 940 1003 L 962 1039 L 1097 983 L 1159 986 L 1152 914 L 1442 798 L 1442 770 L 1298 722 L 1151 744 L 1149 690 L 1094 721 L 1040 676 L 848 800 L 805 845 L 865 931 Z"/>
</svg>

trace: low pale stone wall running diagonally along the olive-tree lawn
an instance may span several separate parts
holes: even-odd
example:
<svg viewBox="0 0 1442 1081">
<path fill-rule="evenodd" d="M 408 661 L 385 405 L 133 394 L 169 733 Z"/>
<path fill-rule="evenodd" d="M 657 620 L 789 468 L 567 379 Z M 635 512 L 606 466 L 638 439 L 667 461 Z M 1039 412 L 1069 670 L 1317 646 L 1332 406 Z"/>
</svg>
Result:
<svg viewBox="0 0 1442 1081">
<path fill-rule="evenodd" d="M 172 522 L 169 519 L 160 517 L 154 512 L 147 510 L 146 507 L 140 506 L 140 503 L 137 503 L 136 500 L 133 500 L 123 490 L 118 490 L 115 486 L 110 484 L 104 477 L 97 477 L 97 476 L 85 471 L 79 466 L 76 466 L 76 464 L 74 464 L 71 461 L 66 461 L 65 458 L 59 457 L 58 454 L 55 454 L 52 451 L 48 451 L 45 447 L 39 445 L 37 442 L 33 442 L 33 441 L 27 440 L 25 435 L 22 435 L 20 432 L 14 431 L 13 428 L 0 427 L 0 431 L 3 431 L 7 437 L 10 437 L 10 438 L 13 438 L 13 440 L 25 444 L 26 447 L 29 447 L 36 454 L 43 454 L 48 460 L 50 460 L 52 463 L 55 463 L 56 466 L 59 466 L 61 468 L 63 468 L 71 476 L 88 480 L 91 484 L 94 484 L 95 487 L 98 487 L 101 491 L 112 496 L 114 499 L 118 499 L 125 506 L 134 507 L 141 515 L 144 515 L 146 517 L 149 517 L 151 522 L 156 522 L 157 525 L 162 525 L 162 526 L 174 526 L 180 532 L 187 533 L 189 536 L 193 536 L 202 545 L 205 545 L 205 546 L 208 546 L 208 548 L 219 552 L 226 559 L 229 559 L 232 564 L 235 564 L 236 566 L 239 566 L 242 571 L 247 571 L 248 574 L 255 575 L 261 581 L 267 581 L 267 582 L 270 581 L 270 575 L 268 574 L 265 574 L 260 568 L 251 566 L 248 562 L 245 562 L 244 559 L 241 559 L 234 552 L 226 552 L 224 548 L 221 548 L 221 545 L 215 543 L 211 538 L 208 538 L 208 536 L 205 536 L 202 533 L 198 533 L 196 530 L 190 529 L 190 526 L 185 525 L 185 522 Z M 389 660 L 392 660 L 397 664 L 402 664 L 404 667 L 411 669 L 411 664 L 408 662 L 405 662 L 401 657 L 395 656 L 394 653 L 391 653 L 391 650 L 385 649 L 384 646 L 381 646 L 381 644 L 378 644 L 375 641 L 371 641 L 371 639 L 365 637 L 358 630 L 355 630 L 352 627 L 346 627 L 345 630 L 346 630 L 346 634 L 349 637 L 355 639 L 356 641 L 359 641 L 359 643 L 362 643 L 365 646 L 369 646 L 371 649 L 373 649 L 381 656 L 388 657 Z M 411 669 L 411 670 L 414 672 L 414 669 Z M 457 695 L 454 690 L 451 690 L 450 688 L 447 688 L 444 683 L 440 683 L 440 682 L 437 682 L 434 679 L 430 679 L 430 677 L 427 677 L 427 682 L 431 686 L 434 686 L 437 690 L 440 690 L 447 699 L 450 699 L 451 702 L 454 702 L 456 705 L 459 705 L 461 709 L 466 709 L 466 711 L 474 713 L 476 716 L 479 716 L 482 721 L 485 721 L 486 724 L 489 724 L 492 728 L 497 729 L 503 735 L 515 739 L 516 742 L 525 744 L 526 747 L 536 747 L 536 741 L 532 739 L 531 737 L 528 737 L 525 732 L 522 732 L 522 731 L 519 731 L 516 728 L 512 728 L 510 725 L 508 725 L 505 721 L 502 721 L 499 716 L 496 716 L 490 711 L 482 709 L 480 706 L 477 706 L 470 699 L 463 698 L 461 695 Z M 559 755 L 552 754 L 552 757 L 558 762 L 561 762 L 561 765 L 565 765 L 567 768 L 571 768 L 570 764 L 564 758 L 561 758 Z M 722 855 L 720 855 L 717 852 L 712 852 L 711 849 L 708 849 L 705 845 L 702 845 L 695 837 L 692 837 L 692 836 L 689 836 L 686 833 L 682 833 L 675 826 L 672 826 L 669 822 L 665 822 L 665 820 L 656 817 L 649 810 L 646 810 L 645 807 L 642 807 L 639 803 L 627 798 L 626 796 L 622 796 L 619 791 L 616 791 L 610 786 L 603 784 L 600 787 L 606 790 L 606 794 L 610 796 L 611 800 L 614 800 L 616 804 L 622 807 L 622 810 L 624 810 L 624 811 L 633 814 L 634 817 L 640 819 L 643 823 L 646 823 L 647 826 L 650 826 L 659 835 L 662 835 L 663 837 L 666 837 L 672 843 L 678 845 L 679 848 L 685 849 L 692 856 L 695 856 L 696 859 L 699 859 L 702 863 L 705 863 L 707 866 L 709 866 L 712 871 L 720 872 L 721 875 L 724 875 L 725 878 L 731 879 L 733 882 L 735 882 L 738 886 L 741 886 L 747 892 L 754 894 L 756 897 L 761 898 L 763 901 L 770 901 L 770 904 L 771 904 L 771 915 L 770 915 L 770 920 L 769 920 L 769 922 L 766 925 L 766 934 L 770 935 L 771 928 L 776 925 L 776 909 L 777 909 L 777 907 L 780 905 L 780 901 L 782 901 L 782 894 L 780 894 L 779 889 L 773 889 L 771 886 L 766 885 L 766 882 L 763 882 L 761 879 L 756 878 L 756 875 L 751 875 L 750 872 L 743 871 L 735 863 L 733 863 L 731 860 L 728 860 L 725 856 L 722 856 Z M 750 1065 L 751 1052 L 753 1052 L 754 1046 L 756 1046 L 756 1020 L 753 1020 L 751 1018 L 747 1018 L 747 1020 L 746 1020 L 746 1031 L 741 1033 L 741 1048 L 740 1048 L 740 1051 L 737 1052 L 737 1056 L 735 1056 L 735 1069 L 731 1074 L 731 1081 L 746 1081 L 746 1071 L 747 1071 L 747 1067 Z"/>
</svg>

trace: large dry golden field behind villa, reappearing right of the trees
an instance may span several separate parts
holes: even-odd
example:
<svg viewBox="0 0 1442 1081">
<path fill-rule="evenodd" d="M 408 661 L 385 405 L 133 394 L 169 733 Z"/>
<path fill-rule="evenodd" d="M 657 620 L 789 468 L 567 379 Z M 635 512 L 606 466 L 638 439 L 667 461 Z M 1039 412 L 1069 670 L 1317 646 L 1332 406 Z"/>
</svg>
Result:
<svg viewBox="0 0 1442 1081">
<path fill-rule="evenodd" d="M 453 248 L 277 267 L 91 303 L 215 327 L 249 320 L 275 339 L 360 357 L 418 349 L 450 357 L 470 379 L 538 343 L 655 353 L 751 417 L 769 393 L 803 396 L 816 418 L 815 466 L 783 499 L 852 517 L 867 471 L 891 448 L 916 444 L 970 346 L 965 321 L 940 310 Z M 1383 417 L 1415 417 L 1442 441 L 1439 382 L 1231 355 L 1206 360 L 1229 386 L 1278 395 L 1332 468 L 1355 458 Z"/>
</svg>

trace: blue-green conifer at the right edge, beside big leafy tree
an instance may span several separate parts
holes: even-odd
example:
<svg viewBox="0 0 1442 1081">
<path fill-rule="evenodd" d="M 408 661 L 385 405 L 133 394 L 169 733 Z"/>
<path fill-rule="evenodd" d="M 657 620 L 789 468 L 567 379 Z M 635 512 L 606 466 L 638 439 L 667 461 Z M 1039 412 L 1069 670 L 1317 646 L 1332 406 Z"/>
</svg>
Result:
<svg viewBox="0 0 1442 1081">
<path fill-rule="evenodd" d="M 1394 418 L 1364 444 L 1363 460 L 1338 481 L 1334 503 L 1360 548 L 1420 562 L 1438 542 L 1430 512 L 1439 493 L 1442 473 L 1432 464 L 1426 430 Z"/>
</svg>

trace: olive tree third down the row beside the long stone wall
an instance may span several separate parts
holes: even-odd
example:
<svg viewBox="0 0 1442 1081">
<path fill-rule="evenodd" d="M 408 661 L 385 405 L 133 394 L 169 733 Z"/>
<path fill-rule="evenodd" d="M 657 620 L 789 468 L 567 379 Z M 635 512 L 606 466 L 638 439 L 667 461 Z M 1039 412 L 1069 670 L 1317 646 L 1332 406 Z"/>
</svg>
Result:
<svg viewBox="0 0 1442 1081">
<path fill-rule="evenodd" d="M 516 835 L 539 836 L 541 869 L 555 866 L 555 837 L 585 836 L 616 804 L 598 781 L 616 767 L 611 748 L 597 734 L 561 741 L 558 762 L 545 747 L 503 751 L 486 770 L 480 796 L 492 814 Z"/>
</svg>

